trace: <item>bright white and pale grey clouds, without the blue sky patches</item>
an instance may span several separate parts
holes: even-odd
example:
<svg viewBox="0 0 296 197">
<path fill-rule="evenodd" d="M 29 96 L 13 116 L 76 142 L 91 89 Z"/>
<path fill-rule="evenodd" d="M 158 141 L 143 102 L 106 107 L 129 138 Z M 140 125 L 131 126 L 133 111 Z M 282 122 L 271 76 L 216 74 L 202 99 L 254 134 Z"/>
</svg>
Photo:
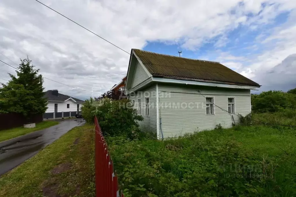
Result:
<svg viewBox="0 0 296 197">
<path fill-rule="evenodd" d="M 280 13 L 296 7 L 294 1 L 42 1 L 53 9 L 82 24 L 127 52 L 143 48 L 148 41 L 178 43 L 198 49 L 213 38 L 221 37 L 217 47 L 229 42 L 227 33 L 239 25 L 257 27 L 272 22 Z M 265 6 L 263 6 L 265 2 Z M 253 14 L 253 17 L 250 15 Z M 292 16 L 292 14 L 291 14 Z M 0 52 L 16 63 L 28 54 L 33 64 L 57 80 L 100 93 L 118 83 L 122 76 L 97 79 L 64 79 L 93 77 L 127 72 L 129 55 L 87 32 L 36 1 L 4 0 L 0 2 Z M 246 68 L 242 57 L 229 54 L 222 61 L 242 74 L 256 77 L 260 68 L 271 69 L 295 51 L 292 27 L 274 33 L 271 40 L 281 40 L 275 48 L 253 57 Z M 289 30 L 289 28 L 291 28 Z M 287 42 L 287 36 L 294 39 Z M 285 38 L 286 37 L 286 38 Z M 15 42 L 12 42 L 15 40 Z M 272 41 L 266 41 L 270 43 Z M 13 64 L 3 56 L 0 59 Z M 1 72 L 13 72 L 1 65 Z M 46 89 L 59 89 L 68 95 L 91 96 L 74 88 L 45 79 Z"/>
</svg>

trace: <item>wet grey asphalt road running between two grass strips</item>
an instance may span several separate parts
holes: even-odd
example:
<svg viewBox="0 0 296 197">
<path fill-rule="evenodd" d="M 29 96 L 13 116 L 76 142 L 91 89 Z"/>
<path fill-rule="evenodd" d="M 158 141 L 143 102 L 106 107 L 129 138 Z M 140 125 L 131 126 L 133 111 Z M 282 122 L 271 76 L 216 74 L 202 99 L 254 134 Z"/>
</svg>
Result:
<svg viewBox="0 0 296 197">
<path fill-rule="evenodd" d="M 72 128 L 84 123 L 83 119 L 66 119 L 55 126 L 0 142 L 0 175 L 20 165 Z"/>
</svg>

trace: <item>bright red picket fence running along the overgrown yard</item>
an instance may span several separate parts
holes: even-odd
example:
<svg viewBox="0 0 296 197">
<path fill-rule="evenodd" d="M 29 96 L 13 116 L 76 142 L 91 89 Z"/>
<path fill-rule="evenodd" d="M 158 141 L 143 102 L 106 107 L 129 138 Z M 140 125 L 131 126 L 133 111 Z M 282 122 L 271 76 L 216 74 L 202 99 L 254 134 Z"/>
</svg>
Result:
<svg viewBox="0 0 296 197">
<path fill-rule="evenodd" d="M 98 119 L 94 118 L 95 134 L 95 175 L 96 197 L 124 197 L 119 195 L 118 180 L 113 170 L 113 162 L 108 151 L 107 143 L 102 134 Z"/>
</svg>

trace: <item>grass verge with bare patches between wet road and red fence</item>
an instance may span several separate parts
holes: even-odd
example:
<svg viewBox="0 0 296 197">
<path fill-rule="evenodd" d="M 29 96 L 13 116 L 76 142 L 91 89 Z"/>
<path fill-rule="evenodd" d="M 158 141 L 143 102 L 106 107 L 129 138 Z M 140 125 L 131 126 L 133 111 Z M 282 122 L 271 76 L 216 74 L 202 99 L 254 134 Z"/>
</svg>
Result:
<svg viewBox="0 0 296 197">
<path fill-rule="evenodd" d="M 53 169 L 68 169 L 55 174 Z M 94 196 L 94 131 L 75 127 L 36 156 L 2 175 L 0 196 Z M 47 193 L 46 193 L 47 192 Z"/>
</svg>

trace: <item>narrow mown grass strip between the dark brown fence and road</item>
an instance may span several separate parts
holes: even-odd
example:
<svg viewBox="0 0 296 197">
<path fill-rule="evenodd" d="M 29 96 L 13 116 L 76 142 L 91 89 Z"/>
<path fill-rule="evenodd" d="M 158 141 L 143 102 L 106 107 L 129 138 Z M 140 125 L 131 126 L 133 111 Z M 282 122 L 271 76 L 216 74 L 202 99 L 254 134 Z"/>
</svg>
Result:
<svg viewBox="0 0 296 197">
<path fill-rule="evenodd" d="M 48 128 L 58 123 L 59 122 L 57 121 L 43 121 L 41 123 L 37 123 L 35 128 L 17 127 L 17 128 L 2 130 L 0 131 L 0 142 L 25 135 L 27 133 L 31 133 L 33 131 L 38 131 L 44 128 Z"/>
</svg>

